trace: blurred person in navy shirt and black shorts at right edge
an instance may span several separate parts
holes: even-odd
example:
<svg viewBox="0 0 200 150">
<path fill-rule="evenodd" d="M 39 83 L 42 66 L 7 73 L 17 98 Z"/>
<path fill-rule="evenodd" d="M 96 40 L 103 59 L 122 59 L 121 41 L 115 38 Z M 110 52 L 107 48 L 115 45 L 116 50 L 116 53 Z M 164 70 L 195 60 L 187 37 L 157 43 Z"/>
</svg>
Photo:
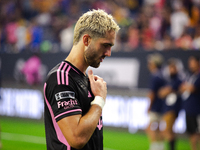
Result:
<svg viewBox="0 0 200 150">
<path fill-rule="evenodd" d="M 200 59 L 191 56 L 188 60 L 192 73 L 188 81 L 182 84 L 183 109 L 186 112 L 187 132 L 192 150 L 200 148 Z"/>
</svg>

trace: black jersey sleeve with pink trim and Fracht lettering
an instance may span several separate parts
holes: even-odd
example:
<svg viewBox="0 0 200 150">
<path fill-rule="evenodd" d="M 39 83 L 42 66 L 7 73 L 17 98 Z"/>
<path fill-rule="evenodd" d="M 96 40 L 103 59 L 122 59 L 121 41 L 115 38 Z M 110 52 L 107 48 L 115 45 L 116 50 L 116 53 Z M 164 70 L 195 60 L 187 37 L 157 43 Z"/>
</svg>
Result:
<svg viewBox="0 0 200 150">
<path fill-rule="evenodd" d="M 67 85 L 56 85 L 51 90 L 47 85 L 46 99 L 52 108 L 54 117 L 58 122 L 62 118 L 82 114 L 82 109 L 76 91 Z"/>
</svg>

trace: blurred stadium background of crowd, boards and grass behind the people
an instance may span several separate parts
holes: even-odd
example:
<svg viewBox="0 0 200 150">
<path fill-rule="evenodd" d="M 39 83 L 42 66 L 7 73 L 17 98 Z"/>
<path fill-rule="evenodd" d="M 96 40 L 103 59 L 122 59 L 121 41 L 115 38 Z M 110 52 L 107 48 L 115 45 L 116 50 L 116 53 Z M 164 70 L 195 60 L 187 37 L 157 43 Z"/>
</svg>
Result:
<svg viewBox="0 0 200 150">
<path fill-rule="evenodd" d="M 108 84 L 105 150 L 148 149 L 146 57 L 177 58 L 180 73 L 187 73 L 188 58 L 200 56 L 199 0 L 0 0 L 2 150 L 45 149 L 45 76 L 67 56 L 79 16 L 97 8 L 121 28 L 112 57 L 94 69 Z M 33 70 L 39 74 L 29 78 Z M 184 119 L 181 111 L 174 126 L 178 150 L 190 149 Z"/>
</svg>

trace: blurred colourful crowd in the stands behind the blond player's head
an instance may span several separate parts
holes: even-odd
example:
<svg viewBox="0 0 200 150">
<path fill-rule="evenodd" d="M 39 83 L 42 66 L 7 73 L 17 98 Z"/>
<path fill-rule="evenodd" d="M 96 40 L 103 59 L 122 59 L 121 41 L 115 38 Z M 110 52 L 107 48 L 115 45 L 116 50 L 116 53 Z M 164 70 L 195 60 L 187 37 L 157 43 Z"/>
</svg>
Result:
<svg viewBox="0 0 200 150">
<path fill-rule="evenodd" d="M 113 51 L 200 50 L 199 0 L 1 0 L 0 52 L 68 52 L 78 17 L 98 8 L 120 25 Z"/>
</svg>

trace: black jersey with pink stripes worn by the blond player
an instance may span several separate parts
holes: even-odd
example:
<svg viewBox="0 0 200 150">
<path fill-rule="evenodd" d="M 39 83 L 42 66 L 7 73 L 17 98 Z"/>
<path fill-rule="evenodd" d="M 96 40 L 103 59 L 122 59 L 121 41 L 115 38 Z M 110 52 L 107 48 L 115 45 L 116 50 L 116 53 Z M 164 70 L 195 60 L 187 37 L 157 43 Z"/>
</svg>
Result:
<svg viewBox="0 0 200 150">
<path fill-rule="evenodd" d="M 57 122 L 64 117 L 84 116 L 88 112 L 94 100 L 88 77 L 63 61 L 49 72 L 44 84 L 44 98 L 47 150 L 75 150 L 68 144 Z M 103 150 L 102 117 L 82 150 Z"/>
</svg>

